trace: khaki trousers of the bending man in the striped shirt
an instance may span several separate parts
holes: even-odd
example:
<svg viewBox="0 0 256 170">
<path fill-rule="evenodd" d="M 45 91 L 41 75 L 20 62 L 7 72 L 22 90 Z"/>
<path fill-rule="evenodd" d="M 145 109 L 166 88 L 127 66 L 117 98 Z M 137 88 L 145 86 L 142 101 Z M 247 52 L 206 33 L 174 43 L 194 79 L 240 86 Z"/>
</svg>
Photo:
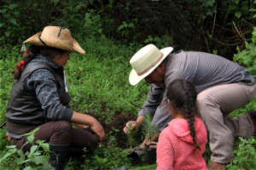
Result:
<svg viewBox="0 0 256 170">
<path fill-rule="evenodd" d="M 247 105 L 255 94 L 256 84 L 247 86 L 240 83 L 219 85 L 198 94 L 198 108 L 207 127 L 212 161 L 230 162 L 234 139 L 253 135 L 253 122 L 247 114 L 236 118 L 227 116 Z"/>
</svg>

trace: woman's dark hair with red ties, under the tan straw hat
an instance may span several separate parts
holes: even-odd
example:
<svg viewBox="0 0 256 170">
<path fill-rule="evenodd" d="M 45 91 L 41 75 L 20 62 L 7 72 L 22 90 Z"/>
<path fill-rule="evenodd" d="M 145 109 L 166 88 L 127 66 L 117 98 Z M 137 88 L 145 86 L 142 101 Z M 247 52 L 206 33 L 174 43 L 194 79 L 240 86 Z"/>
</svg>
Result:
<svg viewBox="0 0 256 170">
<path fill-rule="evenodd" d="M 38 54 L 42 54 L 49 59 L 54 59 L 56 54 L 64 54 L 67 51 L 60 48 L 50 48 L 47 46 L 40 47 L 32 45 L 22 54 L 22 60 L 17 64 L 15 71 L 13 72 L 14 78 L 19 79 L 21 72 L 25 69 L 26 65 Z"/>
</svg>

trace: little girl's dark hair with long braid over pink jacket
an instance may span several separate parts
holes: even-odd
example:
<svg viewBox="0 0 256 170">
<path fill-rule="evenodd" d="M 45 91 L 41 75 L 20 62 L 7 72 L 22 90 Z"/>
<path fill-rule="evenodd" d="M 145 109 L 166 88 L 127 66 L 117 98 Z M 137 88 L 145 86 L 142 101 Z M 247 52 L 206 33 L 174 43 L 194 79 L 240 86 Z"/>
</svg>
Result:
<svg viewBox="0 0 256 170">
<path fill-rule="evenodd" d="M 167 89 L 167 99 L 170 100 L 174 111 L 181 111 L 189 123 L 189 130 L 195 148 L 200 149 L 195 134 L 195 116 L 199 115 L 196 105 L 197 92 L 192 82 L 177 79 L 171 82 Z"/>
</svg>

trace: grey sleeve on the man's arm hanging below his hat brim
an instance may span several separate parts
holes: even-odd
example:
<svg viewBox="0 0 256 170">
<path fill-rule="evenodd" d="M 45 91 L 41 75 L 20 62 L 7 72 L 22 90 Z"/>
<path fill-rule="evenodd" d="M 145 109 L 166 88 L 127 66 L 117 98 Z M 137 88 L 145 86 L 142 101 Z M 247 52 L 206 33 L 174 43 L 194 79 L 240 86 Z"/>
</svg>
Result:
<svg viewBox="0 0 256 170">
<path fill-rule="evenodd" d="M 142 107 L 142 110 L 138 112 L 138 116 L 145 116 L 146 114 L 154 115 L 154 112 L 163 97 L 165 88 L 156 84 L 151 84 L 148 97 Z"/>
</svg>

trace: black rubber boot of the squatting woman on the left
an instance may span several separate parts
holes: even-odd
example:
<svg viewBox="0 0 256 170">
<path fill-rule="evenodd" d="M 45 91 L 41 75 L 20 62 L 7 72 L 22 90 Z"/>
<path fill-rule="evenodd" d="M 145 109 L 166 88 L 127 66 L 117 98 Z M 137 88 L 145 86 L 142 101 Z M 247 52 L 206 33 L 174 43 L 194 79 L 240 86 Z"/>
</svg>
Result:
<svg viewBox="0 0 256 170">
<path fill-rule="evenodd" d="M 63 170 L 67 161 L 69 145 L 49 144 L 49 163 L 55 170 Z"/>
</svg>

